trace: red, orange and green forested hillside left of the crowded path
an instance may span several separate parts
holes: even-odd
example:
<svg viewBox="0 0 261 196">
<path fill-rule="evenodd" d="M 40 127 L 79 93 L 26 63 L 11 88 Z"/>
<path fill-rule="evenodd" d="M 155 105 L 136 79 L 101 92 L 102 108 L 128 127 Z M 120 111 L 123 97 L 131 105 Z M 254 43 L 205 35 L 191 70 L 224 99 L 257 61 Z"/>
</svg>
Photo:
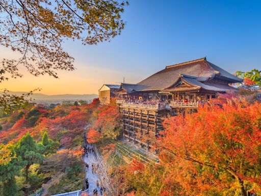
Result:
<svg viewBox="0 0 261 196">
<path fill-rule="evenodd" d="M 0 119 L 0 195 L 51 195 L 82 189 L 82 145 L 98 101 L 31 105 Z M 42 187 L 43 184 L 43 188 Z M 38 191 L 40 191 L 38 190 Z"/>
</svg>

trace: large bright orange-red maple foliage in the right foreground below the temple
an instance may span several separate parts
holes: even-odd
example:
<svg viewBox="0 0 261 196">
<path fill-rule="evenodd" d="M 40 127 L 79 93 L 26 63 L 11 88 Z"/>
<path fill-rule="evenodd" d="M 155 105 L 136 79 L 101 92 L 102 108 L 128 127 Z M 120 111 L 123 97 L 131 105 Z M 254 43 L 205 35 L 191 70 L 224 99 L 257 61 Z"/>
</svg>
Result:
<svg viewBox="0 0 261 196">
<path fill-rule="evenodd" d="M 261 193 L 261 104 L 233 101 L 164 122 L 162 164 L 183 195 Z"/>
</svg>

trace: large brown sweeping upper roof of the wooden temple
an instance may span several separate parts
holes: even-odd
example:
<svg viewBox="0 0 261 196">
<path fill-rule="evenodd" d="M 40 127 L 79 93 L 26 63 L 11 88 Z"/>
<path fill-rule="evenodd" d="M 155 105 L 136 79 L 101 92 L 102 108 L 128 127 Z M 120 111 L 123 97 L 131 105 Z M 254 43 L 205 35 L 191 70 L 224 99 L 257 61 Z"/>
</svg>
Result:
<svg viewBox="0 0 261 196">
<path fill-rule="evenodd" d="M 165 69 L 153 74 L 138 84 L 146 86 L 142 90 L 165 89 L 178 79 L 180 73 L 197 77 L 198 81 L 211 81 L 217 77 L 226 80 L 228 83 L 242 82 L 242 80 L 236 76 L 233 76 L 217 65 L 208 62 L 206 58 L 201 58 L 166 66 Z"/>
</svg>

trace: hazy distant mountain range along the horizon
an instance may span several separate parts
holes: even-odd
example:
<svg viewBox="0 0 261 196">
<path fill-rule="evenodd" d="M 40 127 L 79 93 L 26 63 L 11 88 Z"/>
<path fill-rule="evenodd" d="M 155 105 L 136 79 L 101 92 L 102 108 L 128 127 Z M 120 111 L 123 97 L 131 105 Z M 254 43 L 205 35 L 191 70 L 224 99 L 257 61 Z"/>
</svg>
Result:
<svg viewBox="0 0 261 196">
<path fill-rule="evenodd" d="M 9 91 L 10 94 L 21 95 L 28 92 Z M 55 94 L 47 95 L 42 93 L 33 93 L 30 96 L 34 100 L 93 100 L 98 97 L 97 94 Z"/>
</svg>

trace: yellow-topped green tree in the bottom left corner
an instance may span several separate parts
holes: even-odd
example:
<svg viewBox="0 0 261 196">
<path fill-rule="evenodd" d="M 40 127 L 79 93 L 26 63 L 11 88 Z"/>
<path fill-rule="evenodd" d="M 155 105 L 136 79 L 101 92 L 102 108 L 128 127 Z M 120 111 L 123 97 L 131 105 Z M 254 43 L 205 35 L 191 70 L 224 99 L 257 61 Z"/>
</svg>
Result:
<svg viewBox="0 0 261 196">
<path fill-rule="evenodd" d="M 16 157 L 14 146 L 0 145 L 0 181 L 3 182 L 3 195 L 17 195 L 15 176 L 20 174 L 21 160 Z"/>
</svg>

